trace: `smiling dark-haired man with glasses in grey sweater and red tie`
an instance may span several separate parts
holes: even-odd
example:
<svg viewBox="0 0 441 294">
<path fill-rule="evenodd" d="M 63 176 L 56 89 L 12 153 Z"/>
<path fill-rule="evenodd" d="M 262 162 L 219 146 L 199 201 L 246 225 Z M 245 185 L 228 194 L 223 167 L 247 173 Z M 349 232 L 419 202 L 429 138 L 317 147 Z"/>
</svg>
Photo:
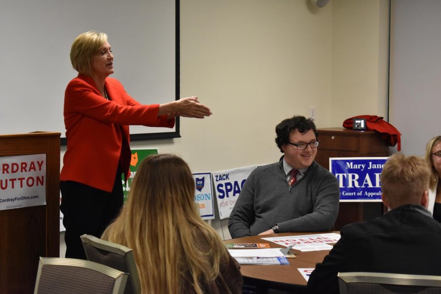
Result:
<svg viewBox="0 0 441 294">
<path fill-rule="evenodd" d="M 246 179 L 228 221 L 232 238 L 329 231 L 337 219 L 339 183 L 314 161 L 319 141 L 313 120 L 294 116 L 275 131 L 284 155 Z"/>
</svg>

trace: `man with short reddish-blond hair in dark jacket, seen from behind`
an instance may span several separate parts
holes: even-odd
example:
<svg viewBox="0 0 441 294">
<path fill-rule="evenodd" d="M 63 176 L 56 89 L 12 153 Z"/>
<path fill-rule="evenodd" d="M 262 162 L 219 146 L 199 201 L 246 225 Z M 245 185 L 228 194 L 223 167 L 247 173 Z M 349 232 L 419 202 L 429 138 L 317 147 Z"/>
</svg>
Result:
<svg viewBox="0 0 441 294">
<path fill-rule="evenodd" d="M 441 275 L 441 223 L 427 210 L 429 177 L 423 158 L 393 154 L 380 176 L 382 200 L 391 210 L 342 228 L 311 273 L 309 293 L 339 293 L 339 272 Z"/>
</svg>

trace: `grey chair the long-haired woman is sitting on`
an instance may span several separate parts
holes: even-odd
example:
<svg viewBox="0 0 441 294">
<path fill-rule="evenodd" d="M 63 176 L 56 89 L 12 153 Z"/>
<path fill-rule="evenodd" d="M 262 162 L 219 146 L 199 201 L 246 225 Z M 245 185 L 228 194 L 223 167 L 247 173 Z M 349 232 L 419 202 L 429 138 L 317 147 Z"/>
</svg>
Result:
<svg viewBox="0 0 441 294">
<path fill-rule="evenodd" d="M 91 235 L 82 235 L 81 241 L 83 242 L 87 260 L 129 274 L 124 294 L 141 294 L 141 285 L 132 249 L 123 245 L 98 239 Z"/>
</svg>

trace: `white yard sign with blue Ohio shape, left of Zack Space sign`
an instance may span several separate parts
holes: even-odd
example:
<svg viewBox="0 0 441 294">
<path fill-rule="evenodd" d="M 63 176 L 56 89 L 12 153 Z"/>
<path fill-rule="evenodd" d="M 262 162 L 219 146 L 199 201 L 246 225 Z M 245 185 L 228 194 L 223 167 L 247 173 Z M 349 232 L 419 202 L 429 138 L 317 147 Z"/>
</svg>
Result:
<svg viewBox="0 0 441 294">
<path fill-rule="evenodd" d="M 193 173 L 193 179 L 195 180 L 196 186 L 195 204 L 197 204 L 197 207 L 199 208 L 199 215 L 202 220 L 212 220 L 214 219 L 214 201 L 211 185 L 211 173 Z"/>
</svg>

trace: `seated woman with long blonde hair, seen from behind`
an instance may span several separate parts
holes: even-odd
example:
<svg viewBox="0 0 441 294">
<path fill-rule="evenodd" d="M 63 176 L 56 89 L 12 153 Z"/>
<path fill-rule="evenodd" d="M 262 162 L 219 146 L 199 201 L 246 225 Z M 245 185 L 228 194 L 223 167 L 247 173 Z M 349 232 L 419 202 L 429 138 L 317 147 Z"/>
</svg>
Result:
<svg viewBox="0 0 441 294">
<path fill-rule="evenodd" d="M 194 203 L 195 180 L 180 157 L 139 166 L 130 195 L 102 239 L 133 249 L 142 293 L 242 293 L 239 264 Z"/>
</svg>

